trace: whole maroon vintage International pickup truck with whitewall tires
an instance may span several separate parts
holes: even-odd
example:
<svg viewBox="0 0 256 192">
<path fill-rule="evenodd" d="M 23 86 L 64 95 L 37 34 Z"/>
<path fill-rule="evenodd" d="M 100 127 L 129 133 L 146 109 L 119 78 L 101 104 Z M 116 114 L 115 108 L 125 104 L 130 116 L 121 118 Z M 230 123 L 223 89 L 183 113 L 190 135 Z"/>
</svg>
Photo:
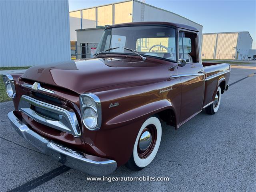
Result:
<svg viewBox="0 0 256 192">
<path fill-rule="evenodd" d="M 216 113 L 229 76 L 229 64 L 201 62 L 196 28 L 134 22 L 107 26 L 94 58 L 3 78 L 15 107 L 8 118 L 25 140 L 62 164 L 104 176 L 124 164 L 148 166 L 161 121 L 177 129 L 202 109 Z"/>
</svg>

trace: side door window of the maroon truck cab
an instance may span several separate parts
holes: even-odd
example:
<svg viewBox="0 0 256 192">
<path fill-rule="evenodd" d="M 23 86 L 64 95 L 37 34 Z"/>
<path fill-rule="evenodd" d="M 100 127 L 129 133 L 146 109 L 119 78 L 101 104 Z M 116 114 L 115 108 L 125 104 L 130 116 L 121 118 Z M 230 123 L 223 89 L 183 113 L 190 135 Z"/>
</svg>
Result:
<svg viewBox="0 0 256 192">
<path fill-rule="evenodd" d="M 196 37 L 197 35 L 194 33 L 179 32 L 179 59 L 182 58 L 187 63 L 198 62 Z"/>
</svg>

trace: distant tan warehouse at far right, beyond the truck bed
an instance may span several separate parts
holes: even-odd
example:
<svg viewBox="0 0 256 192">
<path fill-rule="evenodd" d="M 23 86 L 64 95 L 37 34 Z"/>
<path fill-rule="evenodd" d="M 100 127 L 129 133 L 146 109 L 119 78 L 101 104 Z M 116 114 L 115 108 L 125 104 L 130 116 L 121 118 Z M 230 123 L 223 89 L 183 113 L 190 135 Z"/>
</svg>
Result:
<svg viewBox="0 0 256 192">
<path fill-rule="evenodd" d="M 202 59 L 244 60 L 252 48 L 248 31 L 202 34 Z"/>
</svg>

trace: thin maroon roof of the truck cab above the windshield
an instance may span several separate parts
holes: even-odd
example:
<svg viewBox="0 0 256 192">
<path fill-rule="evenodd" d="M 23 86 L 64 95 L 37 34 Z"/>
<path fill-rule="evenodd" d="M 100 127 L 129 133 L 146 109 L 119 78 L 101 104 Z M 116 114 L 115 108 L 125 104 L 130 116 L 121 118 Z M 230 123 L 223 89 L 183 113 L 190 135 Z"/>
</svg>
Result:
<svg viewBox="0 0 256 192">
<path fill-rule="evenodd" d="M 122 23 L 122 24 L 115 24 L 115 25 L 110 25 L 107 26 L 106 29 L 109 28 L 115 28 L 115 27 L 125 27 L 125 26 L 142 26 L 142 25 L 165 25 L 165 26 L 174 26 L 176 28 L 182 28 L 182 29 L 187 29 L 187 30 L 192 30 L 192 31 L 197 31 L 199 30 L 195 27 L 192 27 L 190 25 L 185 25 L 181 23 L 172 23 L 172 22 L 159 22 L 159 21 L 150 21 L 150 22 L 130 22 L 130 23 Z"/>
</svg>

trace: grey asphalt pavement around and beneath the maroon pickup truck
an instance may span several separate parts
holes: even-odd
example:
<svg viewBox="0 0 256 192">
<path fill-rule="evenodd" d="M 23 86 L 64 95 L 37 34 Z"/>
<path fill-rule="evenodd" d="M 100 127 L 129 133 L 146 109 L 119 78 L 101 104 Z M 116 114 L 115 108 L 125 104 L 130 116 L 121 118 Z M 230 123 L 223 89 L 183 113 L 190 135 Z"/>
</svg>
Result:
<svg viewBox="0 0 256 192">
<path fill-rule="evenodd" d="M 256 191 L 255 72 L 232 68 L 218 113 L 202 111 L 178 130 L 162 123 L 153 162 L 110 175 L 170 178 L 163 182 L 89 182 L 30 146 L 7 119 L 12 102 L 0 103 L 0 191 Z"/>
</svg>

